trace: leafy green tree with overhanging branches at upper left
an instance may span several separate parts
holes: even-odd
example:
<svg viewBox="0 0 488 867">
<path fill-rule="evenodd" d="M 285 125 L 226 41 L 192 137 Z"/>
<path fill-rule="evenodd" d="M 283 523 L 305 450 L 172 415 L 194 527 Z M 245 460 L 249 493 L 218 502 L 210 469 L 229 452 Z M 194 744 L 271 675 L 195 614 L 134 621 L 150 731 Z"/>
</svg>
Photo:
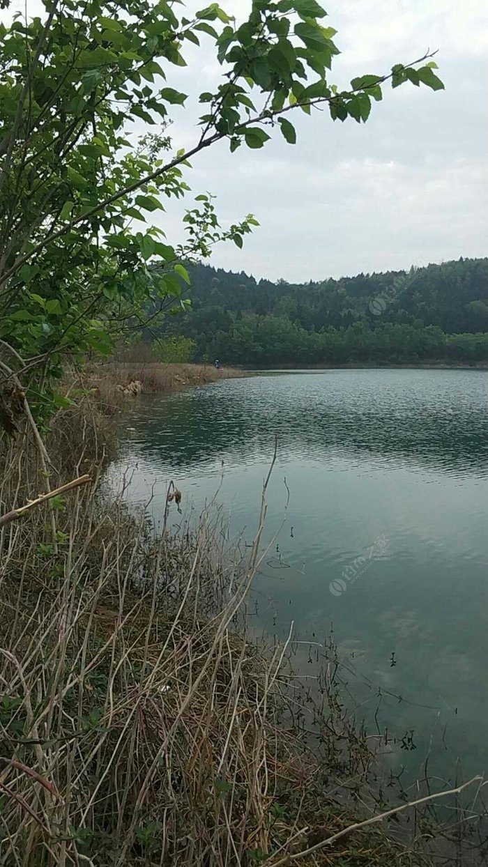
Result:
<svg viewBox="0 0 488 867">
<path fill-rule="evenodd" d="M 333 119 L 364 122 L 390 79 L 442 87 L 435 64 L 415 63 L 339 90 L 329 83 L 335 29 L 316 0 L 259 0 L 238 24 L 218 3 L 179 15 L 164 0 L 43 0 L 40 16 L 18 12 L 0 29 L 0 338 L 10 363 L 25 362 L 41 419 L 59 406 L 49 383 L 67 354 L 110 355 L 155 297 L 161 315 L 185 310 L 184 263 L 221 240 L 241 247 L 257 225 L 248 215 L 222 228 L 203 195 L 185 214 L 185 243 L 166 240 L 151 215 L 190 192 L 191 157 L 221 139 L 260 149 L 277 128 L 294 144 L 284 113 L 297 108 L 326 103 Z M 223 71 L 199 97 L 200 131 L 185 150 L 167 134 L 187 98 L 172 70 L 202 38 Z M 153 132 L 137 138 L 140 121 Z"/>
</svg>

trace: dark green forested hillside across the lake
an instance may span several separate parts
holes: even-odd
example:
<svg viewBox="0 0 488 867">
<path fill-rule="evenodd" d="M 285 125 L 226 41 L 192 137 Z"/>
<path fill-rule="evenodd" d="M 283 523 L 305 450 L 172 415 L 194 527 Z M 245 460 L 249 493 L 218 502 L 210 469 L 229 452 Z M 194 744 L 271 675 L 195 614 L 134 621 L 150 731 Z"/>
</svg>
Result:
<svg viewBox="0 0 488 867">
<path fill-rule="evenodd" d="M 154 319 L 145 338 L 184 336 L 198 361 L 488 361 L 488 258 L 308 284 L 201 264 L 190 271 L 190 310 Z"/>
</svg>

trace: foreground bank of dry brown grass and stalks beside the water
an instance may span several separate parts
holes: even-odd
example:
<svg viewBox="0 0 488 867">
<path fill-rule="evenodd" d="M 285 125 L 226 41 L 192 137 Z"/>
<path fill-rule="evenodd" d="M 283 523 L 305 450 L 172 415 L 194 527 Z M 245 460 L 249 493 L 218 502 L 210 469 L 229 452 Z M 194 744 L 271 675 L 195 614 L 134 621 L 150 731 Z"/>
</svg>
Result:
<svg viewBox="0 0 488 867">
<path fill-rule="evenodd" d="M 446 864 L 427 853 L 433 819 L 418 810 L 408 844 L 406 814 L 400 836 L 351 827 L 388 805 L 334 648 L 317 702 L 291 671 L 293 636 L 269 647 L 247 634 L 264 502 L 251 549 L 230 548 L 211 511 L 179 524 L 174 499 L 157 536 L 123 491 L 105 492 L 105 428 L 92 430 L 93 405 L 77 411 L 50 434 L 49 482 L 89 470 L 92 483 L 0 531 L 1 863 Z M 5 448 L 0 512 L 43 473 L 32 441 Z"/>
</svg>

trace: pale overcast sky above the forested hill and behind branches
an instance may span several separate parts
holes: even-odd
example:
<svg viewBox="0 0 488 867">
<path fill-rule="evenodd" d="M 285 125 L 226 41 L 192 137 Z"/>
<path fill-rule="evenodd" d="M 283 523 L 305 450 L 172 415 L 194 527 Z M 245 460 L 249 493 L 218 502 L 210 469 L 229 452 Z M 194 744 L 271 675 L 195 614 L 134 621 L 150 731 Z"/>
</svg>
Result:
<svg viewBox="0 0 488 867">
<path fill-rule="evenodd" d="M 488 3 L 323 4 L 329 13 L 324 24 L 337 29 L 335 43 L 342 52 L 331 83 L 347 88 L 355 75 L 381 75 L 395 62 L 437 49 L 446 90 L 385 86 L 383 101 L 373 103 L 365 125 L 333 122 L 327 111 L 309 117 L 298 110 L 289 115 L 297 130 L 294 146 L 277 132 L 257 151 L 240 147 L 231 154 L 223 141 L 199 153 L 185 178 L 194 195 L 217 196 L 222 225 L 250 212 L 260 223 L 242 251 L 221 244 L 211 264 L 257 278 L 307 282 L 485 256 Z M 221 0 L 221 5 L 239 18 L 250 3 Z M 204 0 L 186 3 L 189 11 L 202 6 Z M 38 14 L 37 0 L 28 0 L 28 8 Z M 185 109 L 172 112 L 175 149 L 198 140 L 198 94 L 214 88 L 221 75 L 205 37 L 200 49 L 187 42 L 185 57 L 188 66 L 171 67 L 166 81 L 189 95 Z M 158 218 L 168 242 L 183 239 L 182 208 L 191 204 L 169 203 Z"/>
</svg>

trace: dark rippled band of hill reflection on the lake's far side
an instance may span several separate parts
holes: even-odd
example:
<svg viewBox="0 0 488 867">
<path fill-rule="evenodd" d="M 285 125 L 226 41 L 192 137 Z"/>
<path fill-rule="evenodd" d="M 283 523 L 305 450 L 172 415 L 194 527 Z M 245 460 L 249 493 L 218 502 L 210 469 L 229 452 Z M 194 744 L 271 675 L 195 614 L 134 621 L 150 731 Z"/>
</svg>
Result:
<svg viewBox="0 0 488 867">
<path fill-rule="evenodd" d="M 128 449 L 175 467 L 216 459 L 346 457 L 443 473 L 488 472 L 486 375 L 480 371 L 331 371 L 224 381 L 133 407 Z"/>
</svg>

